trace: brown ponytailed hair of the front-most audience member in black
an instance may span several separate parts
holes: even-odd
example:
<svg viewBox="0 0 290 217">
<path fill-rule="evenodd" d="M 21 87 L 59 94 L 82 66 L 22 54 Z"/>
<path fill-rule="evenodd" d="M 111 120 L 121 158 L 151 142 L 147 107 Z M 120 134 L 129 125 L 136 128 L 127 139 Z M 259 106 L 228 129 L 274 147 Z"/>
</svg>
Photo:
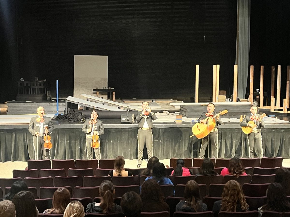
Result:
<svg viewBox="0 0 290 217">
<path fill-rule="evenodd" d="M 101 197 L 101 208 L 104 213 L 113 212 L 113 208 L 115 206 L 113 194 L 115 193 L 114 185 L 111 181 L 105 180 L 102 181 L 99 187 L 99 195 Z"/>
</svg>

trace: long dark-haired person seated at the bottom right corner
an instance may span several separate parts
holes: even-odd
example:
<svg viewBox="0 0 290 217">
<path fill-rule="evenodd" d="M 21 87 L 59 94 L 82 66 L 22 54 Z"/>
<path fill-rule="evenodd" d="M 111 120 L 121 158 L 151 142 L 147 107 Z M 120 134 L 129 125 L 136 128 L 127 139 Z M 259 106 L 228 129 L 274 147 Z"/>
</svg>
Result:
<svg viewBox="0 0 290 217">
<path fill-rule="evenodd" d="M 290 212 L 290 203 L 280 183 L 271 183 L 267 189 L 267 204 L 258 208 L 259 217 L 264 211 Z"/>
</svg>

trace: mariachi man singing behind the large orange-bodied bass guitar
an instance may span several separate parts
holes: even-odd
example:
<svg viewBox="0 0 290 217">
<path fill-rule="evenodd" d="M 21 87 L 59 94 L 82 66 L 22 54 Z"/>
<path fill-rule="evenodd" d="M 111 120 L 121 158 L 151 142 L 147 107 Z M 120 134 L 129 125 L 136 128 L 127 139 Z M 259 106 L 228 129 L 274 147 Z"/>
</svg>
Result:
<svg viewBox="0 0 290 217">
<path fill-rule="evenodd" d="M 209 103 L 207 105 L 207 112 L 201 114 L 200 118 L 197 120 L 198 123 L 206 124 L 207 117 L 215 117 L 215 128 L 209 132 L 209 140 L 211 141 L 211 153 L 214 159 L 218 158 L 218 124 L 222 124 L 222 120 L 220 119 L 219 114 L 215 114 L 215 105 L 213 103 Z M 209 144 L 208 137 L 202 138 L 201 147 L 200 147 L 200 154 L 199 158 L 204 159 L 204 154 L 206 150 L 206 146 Z M 209 157 L 209 156 L 208 156 Z M 210 158 L 210 157 L 209 157 Z"/>
</svg>

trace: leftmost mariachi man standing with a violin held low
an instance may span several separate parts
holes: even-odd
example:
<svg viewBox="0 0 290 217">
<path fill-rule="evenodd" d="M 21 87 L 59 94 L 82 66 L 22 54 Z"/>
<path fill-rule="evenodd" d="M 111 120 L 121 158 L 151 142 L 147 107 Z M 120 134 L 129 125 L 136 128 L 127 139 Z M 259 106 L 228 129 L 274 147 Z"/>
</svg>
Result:
<svg viewBox="0 0 290 217">
<path fill-rule="evenodd" d="M 53 124 L 50 117 L 44 117 L 44 107 L 39 106 L 36 112 L 38 116 L 32 117 L 28 126 L 29 132 L 33 135 L 33 155 L 30 159 L 41 160 L 43 151 L 44 158 L 50 159 L 50 149 L 44 149 L 44 136 L 52 132 Z"/>
</svg>

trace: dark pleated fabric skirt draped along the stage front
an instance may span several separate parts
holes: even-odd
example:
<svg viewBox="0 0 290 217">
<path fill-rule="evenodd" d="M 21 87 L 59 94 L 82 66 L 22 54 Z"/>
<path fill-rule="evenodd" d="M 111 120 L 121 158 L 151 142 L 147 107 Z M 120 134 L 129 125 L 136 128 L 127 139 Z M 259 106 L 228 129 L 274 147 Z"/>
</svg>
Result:
<svg viewBox="0 0 290 217">
<path fill-rule="evenodd" d="M 223 125 L 224 126 L 224 125 Z M 137 158 L 137 128 L 105 128 L 101 135 L 101 157 Z M 153 155 L 159 159 L 197 158 L 201 139 L 189 127 L 153 128 Z M 85 135 L 81 128 L 55 128 L 51 133 L 52 159 L 86 159 Z M 247 135 L 240 128 L 219 128 L 219 158 L 248 158 Z M 290 128 L 264 128 L 265 157 L 290 158 Z M 32 156 L 32 135 L 27 128 L 0 129 L 1 161 L 27 161 Z M 206 152 L 207 153 L 207 152 Z"/>
</svg>

